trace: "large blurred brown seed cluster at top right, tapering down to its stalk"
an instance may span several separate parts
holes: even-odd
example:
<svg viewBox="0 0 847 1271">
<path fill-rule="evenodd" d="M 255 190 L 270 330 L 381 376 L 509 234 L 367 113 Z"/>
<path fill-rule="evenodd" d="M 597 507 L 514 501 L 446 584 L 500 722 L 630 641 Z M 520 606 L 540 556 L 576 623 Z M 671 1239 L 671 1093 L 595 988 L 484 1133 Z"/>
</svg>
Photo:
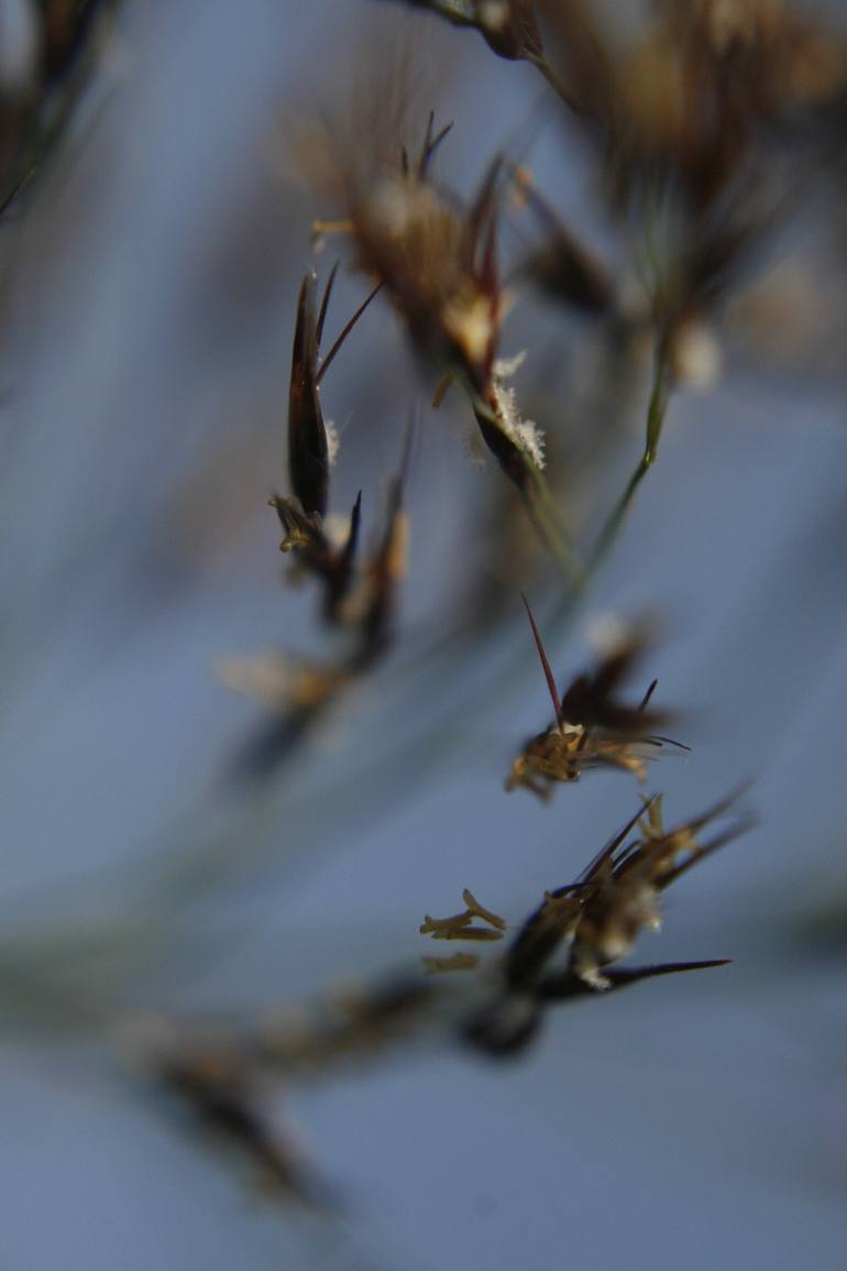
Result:
<svg viewBox="0 0 847 1271">
<path fill-rule="evenodd" d="M 542 8 L 571 104 L 602 139 L 616 214 L 649 228 L 664 208 L 649 301 L 673 361 L 677 333 L 714 313 L 796 198 L 808 125 L 825 144 L 847 47 L 782 0 L 663 0 L 624 47 L 578 0 Z"/>
</svg>

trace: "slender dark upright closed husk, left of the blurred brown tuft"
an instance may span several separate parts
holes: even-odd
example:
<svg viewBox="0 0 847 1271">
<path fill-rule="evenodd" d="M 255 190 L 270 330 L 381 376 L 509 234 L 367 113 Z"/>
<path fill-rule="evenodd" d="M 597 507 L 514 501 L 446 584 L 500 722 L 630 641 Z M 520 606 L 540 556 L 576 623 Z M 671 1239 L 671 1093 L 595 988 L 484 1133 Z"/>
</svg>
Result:
<svg viewBox="0 0 847 1271">
<path fill-rule="evenodd" d="M 288 391 L 288 470 L 291 488 L 307 516 L 324 517 L 329 500 L 329 444 L 317 388 L 315 272 L 303 278 Z"/>
</svg>

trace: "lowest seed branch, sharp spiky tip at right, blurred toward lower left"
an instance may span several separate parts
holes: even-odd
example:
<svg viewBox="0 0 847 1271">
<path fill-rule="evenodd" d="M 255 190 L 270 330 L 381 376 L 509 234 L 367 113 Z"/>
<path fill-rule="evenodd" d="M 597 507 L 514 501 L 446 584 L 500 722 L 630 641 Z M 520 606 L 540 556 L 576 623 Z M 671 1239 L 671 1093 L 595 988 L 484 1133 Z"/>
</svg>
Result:
<svg viewBox="0 0 847 1271">
<path fill-rule="evenodd" d="M 519 1052 L 537 1036 L 552 1005 L 608 995 L 646 979 L 725 966 L 725 958 L 617 967 L 648 927 L 657 929 L 660 894 L 691 864 L 737 838 L 735 821 L 710 840 L 701 834 L 726 815 L 734 796 L 665 831 L 660 802 L 641 805 L 573 883 L 545 892 L 521 924 L 505 955 L 461 991 L 432 979 L 389 976 L 373 989 L 324 999 L 306 1010 L 265 1013 L 259 1026 L 207 1030 L 177 1022 L 124 1027 L 124 1047 L 171 1094 L 185 1101 L 218 1138 L 237 1146 L 272 1178 L 279 1193 L 320 1197 L 302 1153 L 272 1126 L 264 1092 L 283 1083 L 319 1078 L 339 1064 L 372 1060 L 400 1042 L 437 1028 L 489 1056 Z M 649 817 L 644 821 L 645 815 Z M 635 831 L 635 835 L 634 835 Z M 466 888 L 466 909 L 446 919 L 424 919 L 422 933 L 436 938 L 495 941 L 505 920 Z M 486 927 L 474 925 L 479 919 Z M 564 966 L 557 956 L 564 951 Z M 429 977 L 477 971 L 476 955 L 427 957 Z M 443 981 L 442 981 L 443 982 Z"/>
</svg>

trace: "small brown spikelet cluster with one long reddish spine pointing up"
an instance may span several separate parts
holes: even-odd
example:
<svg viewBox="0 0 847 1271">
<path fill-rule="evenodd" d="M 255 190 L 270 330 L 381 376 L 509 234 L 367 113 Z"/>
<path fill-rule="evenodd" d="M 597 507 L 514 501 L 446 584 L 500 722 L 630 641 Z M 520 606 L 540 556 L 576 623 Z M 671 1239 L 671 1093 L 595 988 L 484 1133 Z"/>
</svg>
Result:
<svg viewBox="0 0 847 1271">
<path fill-rule="evenodd" d="M 631 634 L 593 672 L 577 676 L 560 698 L 526 597 L 523 602 L 555 717 L 549 728 L 527 742 L 512 764 L 507 791 L 523 785 L 540 798 L 549 798 L 556 782 L 575 782 L 592 768 L 620 768 L 644 780 L 648 761 L 663 746 L 687 749 L 654 732 L 667 719 L 667 716 L 648 709 L 658 681 L 653 681 L 635 707 L 616 699 L 618 685 L 644 651 L 643 636 Z"/>
</svg>

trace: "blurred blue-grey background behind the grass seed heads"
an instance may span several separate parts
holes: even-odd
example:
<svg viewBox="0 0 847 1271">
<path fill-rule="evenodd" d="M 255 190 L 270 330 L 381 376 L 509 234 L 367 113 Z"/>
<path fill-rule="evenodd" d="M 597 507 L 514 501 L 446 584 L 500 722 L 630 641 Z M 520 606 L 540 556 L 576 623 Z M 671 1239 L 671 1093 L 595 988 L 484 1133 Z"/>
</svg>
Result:
<svg viewBox="0 0 847 1271">
<path fill-rule="evenodd" d="M 641 6 L 621 10 L 626 27 Z M 32 14 L 0 15 L 13 100 Z M 414 965 L 424 911 L 452 913 L 465 886 L 519 921 L 634 811 L 617 773 L 549 806 L 503 791 L 549 714 L 518 591 L 544 622 L 557 582 L 495 464 L 469 461 L 461 394 L 429 408 L 381 301 L 323 400 L 333 501 L 362 488 L 371 536 L 418 404 L 397 638 L 239 777 L 267 721 L 221 666 L 328 644 L 267 507 L 297 290 L 337 247 L 312 255 L 325 210 L 290 136 L 366 51 L 377 69 L 408 57 L 424 109 L 455 121 L 448 184 L 467 194 L 514 145 L 613 255 L 587 146 L 532 67 L 364 0 L 122 4 L 4 214 L 0 1263 L 841 1267 L 843 151 L 723 308 L 716 383 L 674 395 L 620 545 L 547 632 L 566 679 L 598 619 L 660 615 L 650 674 L 693 747 L 650 773 L 672 822 L 753 782 L 757 829 L 686 877 L 640 949 L 733 966 L 551 1013 L 503 1066 L 413 1046 L 292 1084 L 279 1116 L 342 1197 L 330 1214 L 257 1188 L 116 1047 L 141 1013 L 241 1018 Z M 366 290 L 342 269 L 331 333 Z M 535 299 L 507 322 L 503 352 L 523 348 L 518 398 L 580 531 L 637 459 L 649 350 L 610 361 L 593 319 Z"/>
</svg>

